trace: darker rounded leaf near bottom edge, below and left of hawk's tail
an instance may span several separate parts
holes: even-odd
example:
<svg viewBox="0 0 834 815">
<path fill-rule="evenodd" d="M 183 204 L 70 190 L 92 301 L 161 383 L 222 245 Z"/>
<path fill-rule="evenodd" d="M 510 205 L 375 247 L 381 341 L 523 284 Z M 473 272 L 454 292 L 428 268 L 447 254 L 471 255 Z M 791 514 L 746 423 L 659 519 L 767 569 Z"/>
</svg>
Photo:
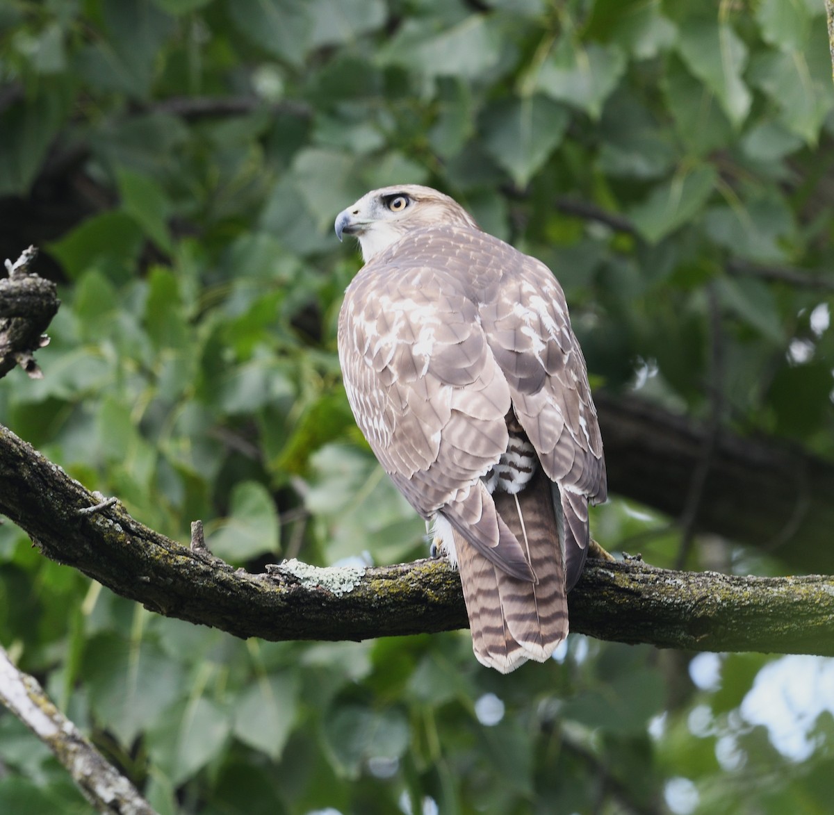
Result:
<svg viewBox="0 0 834 815">
<path fill-rule="evenodd" d="M 409 744 L 409 725 L 396 709 L 335 707 L 324 717 L 324 737 L 336 768 L 358 778 L 369 758 L 399 758 Z"/>
</svg>

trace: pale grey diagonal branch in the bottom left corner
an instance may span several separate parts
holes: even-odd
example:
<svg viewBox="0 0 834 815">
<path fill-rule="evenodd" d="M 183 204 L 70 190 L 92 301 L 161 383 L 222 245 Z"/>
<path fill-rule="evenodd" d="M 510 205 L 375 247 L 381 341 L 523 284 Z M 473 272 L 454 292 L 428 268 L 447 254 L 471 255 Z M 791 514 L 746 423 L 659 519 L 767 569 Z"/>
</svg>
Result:
<svg viewBox="0 0 834 815">
<path fill-rule="evenodd" d="M 99 812 L 154 815 L 136 787 L 55 707 L 34 677 L 15 667 L 3 647 L 0 647 L 0 702 L 52 750 L 84 797 Z"/>
</svg>

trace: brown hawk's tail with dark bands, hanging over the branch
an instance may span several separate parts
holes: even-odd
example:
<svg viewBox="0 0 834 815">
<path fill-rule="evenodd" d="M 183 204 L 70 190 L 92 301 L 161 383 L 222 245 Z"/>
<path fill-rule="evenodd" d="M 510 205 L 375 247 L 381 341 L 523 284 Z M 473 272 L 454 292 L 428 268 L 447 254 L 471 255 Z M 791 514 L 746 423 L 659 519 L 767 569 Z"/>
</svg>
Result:
<svg viewBox="0 0 834 815">
<path fill-rule="evenodd" d="M 535 582 L 511 577 L 456 530 L 455 548 L 475 657 L 509 673 L 528 659 L 545 662 L 567 636 L 565 561 L 544 473 L 537 473 L 517 496 L 496 490 L 493 498 L 499 516 L 527 552 Z"/>
</svg>

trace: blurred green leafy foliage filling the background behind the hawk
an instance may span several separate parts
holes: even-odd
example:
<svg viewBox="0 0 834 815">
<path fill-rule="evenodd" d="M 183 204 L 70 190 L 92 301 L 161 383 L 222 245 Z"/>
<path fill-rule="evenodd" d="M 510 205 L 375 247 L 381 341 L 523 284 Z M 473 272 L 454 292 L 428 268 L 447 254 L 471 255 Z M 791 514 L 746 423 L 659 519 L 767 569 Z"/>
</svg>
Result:
<svg viewBox="0 0 834 815">
<path fill-rule="evenodd" d="M 0 248 L 37 243 L 63 305 L 45 378 L 5 378 L 0 421 L 168 536 L 203 518 L 252 570 L 422 556 L 344 398 L 360 261 L 332 231 L 369 188 L 417 182 L 555 270 L 596 388 L 831 458 L 832 107 L 814 0 L 4 0 Z M 686 535 L 616 496 L 593 520 L 658 565 Z M 716 537 L 686 564 L 784 572 Z M 500 677 L 467 632 L 241 642 L 9 522 L 0 640 L 162 813 L 834 796 L 825 660 L 570 637 Z M 88 811 L 8 714 L 0 811 Z"/>
</svg>

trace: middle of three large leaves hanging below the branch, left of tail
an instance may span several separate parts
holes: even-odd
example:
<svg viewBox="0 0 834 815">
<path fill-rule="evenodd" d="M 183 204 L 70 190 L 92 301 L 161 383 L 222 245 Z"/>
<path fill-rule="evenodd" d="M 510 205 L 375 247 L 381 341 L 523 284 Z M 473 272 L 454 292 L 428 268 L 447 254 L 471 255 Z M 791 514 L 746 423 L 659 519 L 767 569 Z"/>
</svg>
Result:
<svg viewBox="0 0 834 815">
<path fill-rule="evenodd" d="M 279 761 L 298 718 L 299 690 L 297 674 L 260 677 L 234 703 L 234 735 Z"/>
</svg>

